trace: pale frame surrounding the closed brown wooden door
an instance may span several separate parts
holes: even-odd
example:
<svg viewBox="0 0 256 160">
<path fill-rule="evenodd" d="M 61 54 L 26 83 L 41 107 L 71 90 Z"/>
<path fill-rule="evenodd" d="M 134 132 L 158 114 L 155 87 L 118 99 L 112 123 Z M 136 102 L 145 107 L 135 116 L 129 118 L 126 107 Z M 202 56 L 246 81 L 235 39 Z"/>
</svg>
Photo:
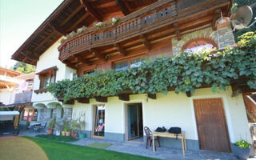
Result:
<svg viewBox="0 0 256 160">
<path fill-rule="evenodd" d="M 198 146 L 199 146 L 199 150 L 202 150 L 202 149 L 201 149 L 200 141 L 199 141 L 198 121 L 197 121 L 196 113 L 195 113 L 195 110 L 194 110 L 194 100 L 203 100 L 203 99 L 220 99 L 220 100 L 221 100 L 221 103 L 222 103 L 222 112 L 223 112 L 223 114 L 224 114 L 224 122 L 225 122 L 224 125 L 225 125 L 225 127 L 226 127 L 227 141 L 228 141 L 228 143 L 229 143 L 230 153 L 232 153 L 231 143 L 230 143 L 230 133 L 229 133 L 229 128 L 228 128 L 227 121 L 226 121 L 226 110 L 225 110 L 225 106 L 224 106 L 224 102 L 223 102 L 223 98 L 222 98 L 222 97 L 192 98 L 192 106 L 193 106 L 193 112 L 194 112 L 194 121 L 195 121 L 195 126 L 196 126 L 196 128 L 197 128 L 197 134 L 198 134 Z"/>
</svg>

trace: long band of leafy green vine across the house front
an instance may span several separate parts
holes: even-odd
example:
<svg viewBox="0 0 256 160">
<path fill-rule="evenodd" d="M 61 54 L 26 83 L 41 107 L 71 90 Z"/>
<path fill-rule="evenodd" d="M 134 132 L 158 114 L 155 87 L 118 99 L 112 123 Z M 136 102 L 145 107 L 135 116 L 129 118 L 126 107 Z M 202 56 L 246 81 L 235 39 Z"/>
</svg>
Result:
<svg viewBox="0 0 256 160">
<path fill-rule="evenodd" d="M 226 90 L 230 82 L 246 79 L 251 89 L 256 89 L 256 34 L 248 32 L 235 46 L 225 50 L 202 50 L 200 53 L 180 54 L 171 58 L 146 58 L 136 68 L 115 72 L 96 70 L 75 80 L 51 83 L 47 89 L 64 102 L 74 98 L 108 97 L 131 90 L 134 94 L 167 94 L 194 92 L 196 88 L 210 85 L 211 90 Z"/>
</svg>

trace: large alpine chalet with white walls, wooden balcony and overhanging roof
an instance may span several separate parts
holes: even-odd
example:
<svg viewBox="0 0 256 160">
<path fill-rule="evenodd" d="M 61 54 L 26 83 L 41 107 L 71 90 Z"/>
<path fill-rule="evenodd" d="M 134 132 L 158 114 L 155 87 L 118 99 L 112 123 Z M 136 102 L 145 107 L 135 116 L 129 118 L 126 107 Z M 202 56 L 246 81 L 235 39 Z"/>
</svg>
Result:
<svg viewBox="0 0 256 160">
<path fill-rule="evenodd" d="M 231 6 L 230 0 L 65 0 L 12 58 L 37 66 L 32 102 L 40 122 L 82 115 L 86 137 L 132 142 L 146 142 L 144 126 L 150 130 L 178 126 L 184 131 L 188 150 L 232 152 L 234 142 L 251 142 L 243 97 L 234 93 L 234 87 L 212 92 L 211 85 L 204 85 L 179 94 L 173 87 L 166 94 L 130 89 L 103 96 L 103 92 L 119 87 L 113 83 L 102 94 L 66 100 L 55 98 L 46 89 L 50 82 L 94 78 L 98 72 L 94 70 L 105 73 L 113 69 L 112 74 L 138 70 L 145 64 L 144 58 L 170 58 L 184 50 L 233 46 Z M 74 83 L 74 90 L 66 96 L 83 85 L 86 82 L 81 86 Z M 101 90 L 98 87 L 88 86 L 83 93 L 97 88 L 96 93 Z M 160 143 L 182 147 L 175 138 L 160 138 Z"/>
</svg>

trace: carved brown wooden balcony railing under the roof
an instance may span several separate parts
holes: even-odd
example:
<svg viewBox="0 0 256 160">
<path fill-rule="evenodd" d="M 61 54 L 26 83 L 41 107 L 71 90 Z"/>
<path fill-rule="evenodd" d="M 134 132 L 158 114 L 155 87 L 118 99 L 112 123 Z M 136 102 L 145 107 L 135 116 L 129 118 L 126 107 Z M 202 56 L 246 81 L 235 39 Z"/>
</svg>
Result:
<svg viewBox="0 0 256 160">
<path fill-rule="evenodd" d="M 70 55 L 78 54 L 98 46 L 114 45 L 114 43 L 146 33 L 155 26 L 161 26 L 174 20 L 177 15 L 174 0 L 154 2 L 142 10 L 138 10 L 120 19 L 117 26 L 106 26 L 101 30 L 90 27 L 73 38 L 67 38 L 58 47 L 61 61 Z"/>
</svg>

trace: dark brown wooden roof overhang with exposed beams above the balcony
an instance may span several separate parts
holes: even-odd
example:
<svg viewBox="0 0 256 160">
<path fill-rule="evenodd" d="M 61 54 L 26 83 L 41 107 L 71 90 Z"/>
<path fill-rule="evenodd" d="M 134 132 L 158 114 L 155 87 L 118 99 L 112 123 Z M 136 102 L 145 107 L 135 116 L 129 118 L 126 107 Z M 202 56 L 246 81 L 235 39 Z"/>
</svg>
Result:
<svg viewBox="0 0 256 160">
<path fill-rule="evenodd" d="M 12 55 L 12 59 L 36 65 L 38 58 L 63 35 L 114 13 L 130 14 L 157 0 L 65 0 Z"/>
</svg>

